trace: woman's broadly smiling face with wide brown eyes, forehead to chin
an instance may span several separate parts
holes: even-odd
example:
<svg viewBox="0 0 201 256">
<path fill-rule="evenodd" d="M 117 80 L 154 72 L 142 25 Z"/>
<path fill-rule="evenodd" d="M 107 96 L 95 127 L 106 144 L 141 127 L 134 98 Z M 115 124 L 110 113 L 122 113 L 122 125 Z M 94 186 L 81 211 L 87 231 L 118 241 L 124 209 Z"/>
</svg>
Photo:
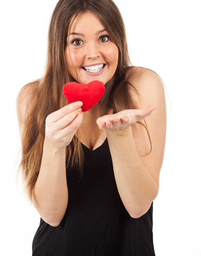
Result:
<svg viewBox="0 0 201 256">
<path fill-rule="evenodd" d="M 98 80 L 105 84 L 116 71 L 118 47 L 104 29 L 97 16 L 87 11 L 79 13 L 71 31 L 68 31 L 65 58 L 71 76 L 78 83 Z"/>
</svg>

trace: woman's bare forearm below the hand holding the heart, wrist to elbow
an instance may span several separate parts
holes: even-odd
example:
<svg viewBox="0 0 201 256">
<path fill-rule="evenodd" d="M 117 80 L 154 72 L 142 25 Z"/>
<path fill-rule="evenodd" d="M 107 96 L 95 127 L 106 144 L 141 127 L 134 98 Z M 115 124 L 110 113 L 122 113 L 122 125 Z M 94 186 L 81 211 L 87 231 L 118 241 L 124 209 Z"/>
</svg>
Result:
<svg viewBox="0 0 201 256">
<path fill-rule="evenodd" d="M 60 223 L 67 209 L 65 148 L 54 150 L 46 140 L 40 172 L 33 190 L 33 204 L 41 218 L 52 226 Z"/>
</svg>

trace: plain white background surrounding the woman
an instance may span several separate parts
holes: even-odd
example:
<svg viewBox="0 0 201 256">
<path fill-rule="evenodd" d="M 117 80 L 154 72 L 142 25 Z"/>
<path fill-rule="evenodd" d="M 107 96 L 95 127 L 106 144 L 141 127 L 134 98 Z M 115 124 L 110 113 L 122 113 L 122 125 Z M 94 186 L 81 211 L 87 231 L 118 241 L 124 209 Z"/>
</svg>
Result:
<svg viewBox="0 0 201 256">
<path fill-rule="evenodd" d="M 16 182 L 20 135 L 16 97 L 43 75 L 56 0 L 0 1 L 0 255 L 29 256 L 40 215 Z M 200 256 L 200 8 L 191 0 L 116 0 L 132 65 L 165 84 L 167 137 L 154 200 L 156 256 Z M 170 97 L 170 98 L 169 98 Z"/>
</svg>

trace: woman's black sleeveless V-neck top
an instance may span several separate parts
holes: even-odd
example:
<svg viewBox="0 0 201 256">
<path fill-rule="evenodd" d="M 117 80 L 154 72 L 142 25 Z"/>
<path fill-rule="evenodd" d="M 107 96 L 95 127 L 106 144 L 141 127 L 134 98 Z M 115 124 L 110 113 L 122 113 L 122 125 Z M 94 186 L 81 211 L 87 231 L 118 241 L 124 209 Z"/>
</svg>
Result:
<svg viewBox="0 0 201 256">
<path fill-rule="evenodd" d="M 154 256 L 153 202 L 140 218 L 125 209 L 115 182 L 107 138 L 85 153 L 83 178 L 67 171 L 68 206 L 52 227 L 40 218 L 32 256 Z"/>
</svg>

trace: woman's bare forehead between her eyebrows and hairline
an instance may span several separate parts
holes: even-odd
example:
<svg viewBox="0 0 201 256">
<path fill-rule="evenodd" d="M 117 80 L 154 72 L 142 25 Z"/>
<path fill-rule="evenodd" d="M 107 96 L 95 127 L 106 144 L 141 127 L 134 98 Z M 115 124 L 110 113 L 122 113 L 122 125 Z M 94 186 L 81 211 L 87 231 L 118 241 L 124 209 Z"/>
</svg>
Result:
<svg viewBox="0 0 201 256">
<path fill-rule="evenodd" d="M 74 17 L 71 18 L 71 21 L 69 24 L 69 28 L 71 28 L 71 30 L 69 31 L 68 34 L 70 34 L 71 32 L 81 33 L 83 30 L 93 31 L 93 29 L 95 29 L 98 31 L 98 30 L 104 29 L 104 25 L 100 21 L 100 18 L 92 11 L 79 13 L 72 24 L 73 18 Z"/>
</svg>

